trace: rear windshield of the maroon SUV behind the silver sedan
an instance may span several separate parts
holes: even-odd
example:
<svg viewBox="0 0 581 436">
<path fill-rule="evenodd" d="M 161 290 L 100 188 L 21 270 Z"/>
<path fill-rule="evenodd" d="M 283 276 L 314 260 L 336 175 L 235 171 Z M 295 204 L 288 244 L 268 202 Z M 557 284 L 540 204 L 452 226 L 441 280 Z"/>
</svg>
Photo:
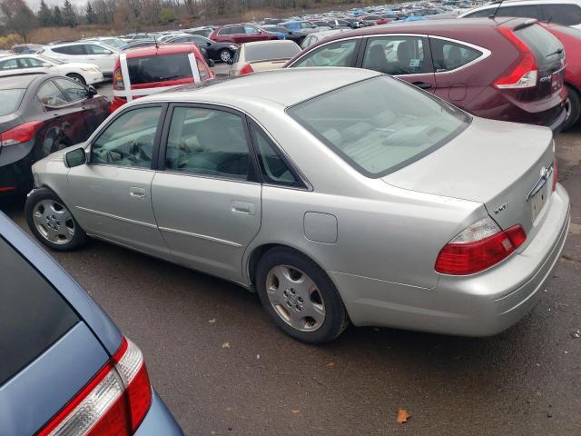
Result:
<svg viewBox="0 0 581 436">
<path fill-rule="evenodd" d="M 551 69 L 556 71 L 561 67 L 565 50 L 556 36 L 540 25 L 527 25 L 527 27 L 517 30 L 515 34 L 533 51 L 537 57 L 539 70 Z"/>
</svg>

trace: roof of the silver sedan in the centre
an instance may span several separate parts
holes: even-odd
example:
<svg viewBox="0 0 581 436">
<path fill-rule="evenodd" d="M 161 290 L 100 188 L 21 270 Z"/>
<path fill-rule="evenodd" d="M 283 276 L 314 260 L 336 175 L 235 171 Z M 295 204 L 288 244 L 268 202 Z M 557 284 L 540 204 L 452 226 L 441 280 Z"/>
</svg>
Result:
<svg viewBox="0 0 581 436">
<path fill-rule="evenodd" d="M 171 91 L 143 97 L 138 102 L 183 101 L 230 104 L 243 107 L 249 102 L 288 107 L 334 89 L 382 75 L 360 68 L 288 68 L 209 80 L 184 85 Z M 284 86 L 281 86 L 281 83 Z"/>
</svg>

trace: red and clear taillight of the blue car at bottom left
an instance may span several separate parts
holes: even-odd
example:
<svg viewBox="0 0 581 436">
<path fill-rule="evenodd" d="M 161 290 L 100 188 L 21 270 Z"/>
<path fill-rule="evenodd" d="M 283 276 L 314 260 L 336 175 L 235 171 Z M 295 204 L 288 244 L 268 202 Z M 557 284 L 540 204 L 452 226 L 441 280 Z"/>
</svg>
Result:
<svg viewBox="0 0 581 436">
<path fill-rule="evenodd" d="M 149 410 L 152 388 L 141 350 L 121 347 L 38 436 L 129 436 Z"/>
</svg>

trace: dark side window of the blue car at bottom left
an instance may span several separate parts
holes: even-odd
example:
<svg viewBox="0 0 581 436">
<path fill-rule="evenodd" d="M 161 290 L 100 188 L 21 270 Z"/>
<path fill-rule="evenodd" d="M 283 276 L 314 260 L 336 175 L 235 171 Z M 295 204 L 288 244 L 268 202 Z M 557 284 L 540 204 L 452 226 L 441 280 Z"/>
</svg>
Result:
<svg viewBox="0 0 581 436">
<path fill-rule="evenodd" d="M 79 318 L 34 267 L 0 238 L 0 385 L 34 361 Z"/>
</svg>

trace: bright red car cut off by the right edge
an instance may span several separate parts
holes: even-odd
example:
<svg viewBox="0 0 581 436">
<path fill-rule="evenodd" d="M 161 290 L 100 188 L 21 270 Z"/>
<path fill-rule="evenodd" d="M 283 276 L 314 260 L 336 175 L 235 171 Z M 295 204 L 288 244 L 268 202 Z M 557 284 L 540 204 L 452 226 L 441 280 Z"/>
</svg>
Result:
<svg viewBox="0 0 581 436">
<path fill-rule="evenodd" d="M 566 53 L 565 86 L 567 96 L 567 120 L 563 130 L 570 129 L 581 117 L 581 31 L 566 25 L 544 25 L 555 35 Z"/>
</svg>

